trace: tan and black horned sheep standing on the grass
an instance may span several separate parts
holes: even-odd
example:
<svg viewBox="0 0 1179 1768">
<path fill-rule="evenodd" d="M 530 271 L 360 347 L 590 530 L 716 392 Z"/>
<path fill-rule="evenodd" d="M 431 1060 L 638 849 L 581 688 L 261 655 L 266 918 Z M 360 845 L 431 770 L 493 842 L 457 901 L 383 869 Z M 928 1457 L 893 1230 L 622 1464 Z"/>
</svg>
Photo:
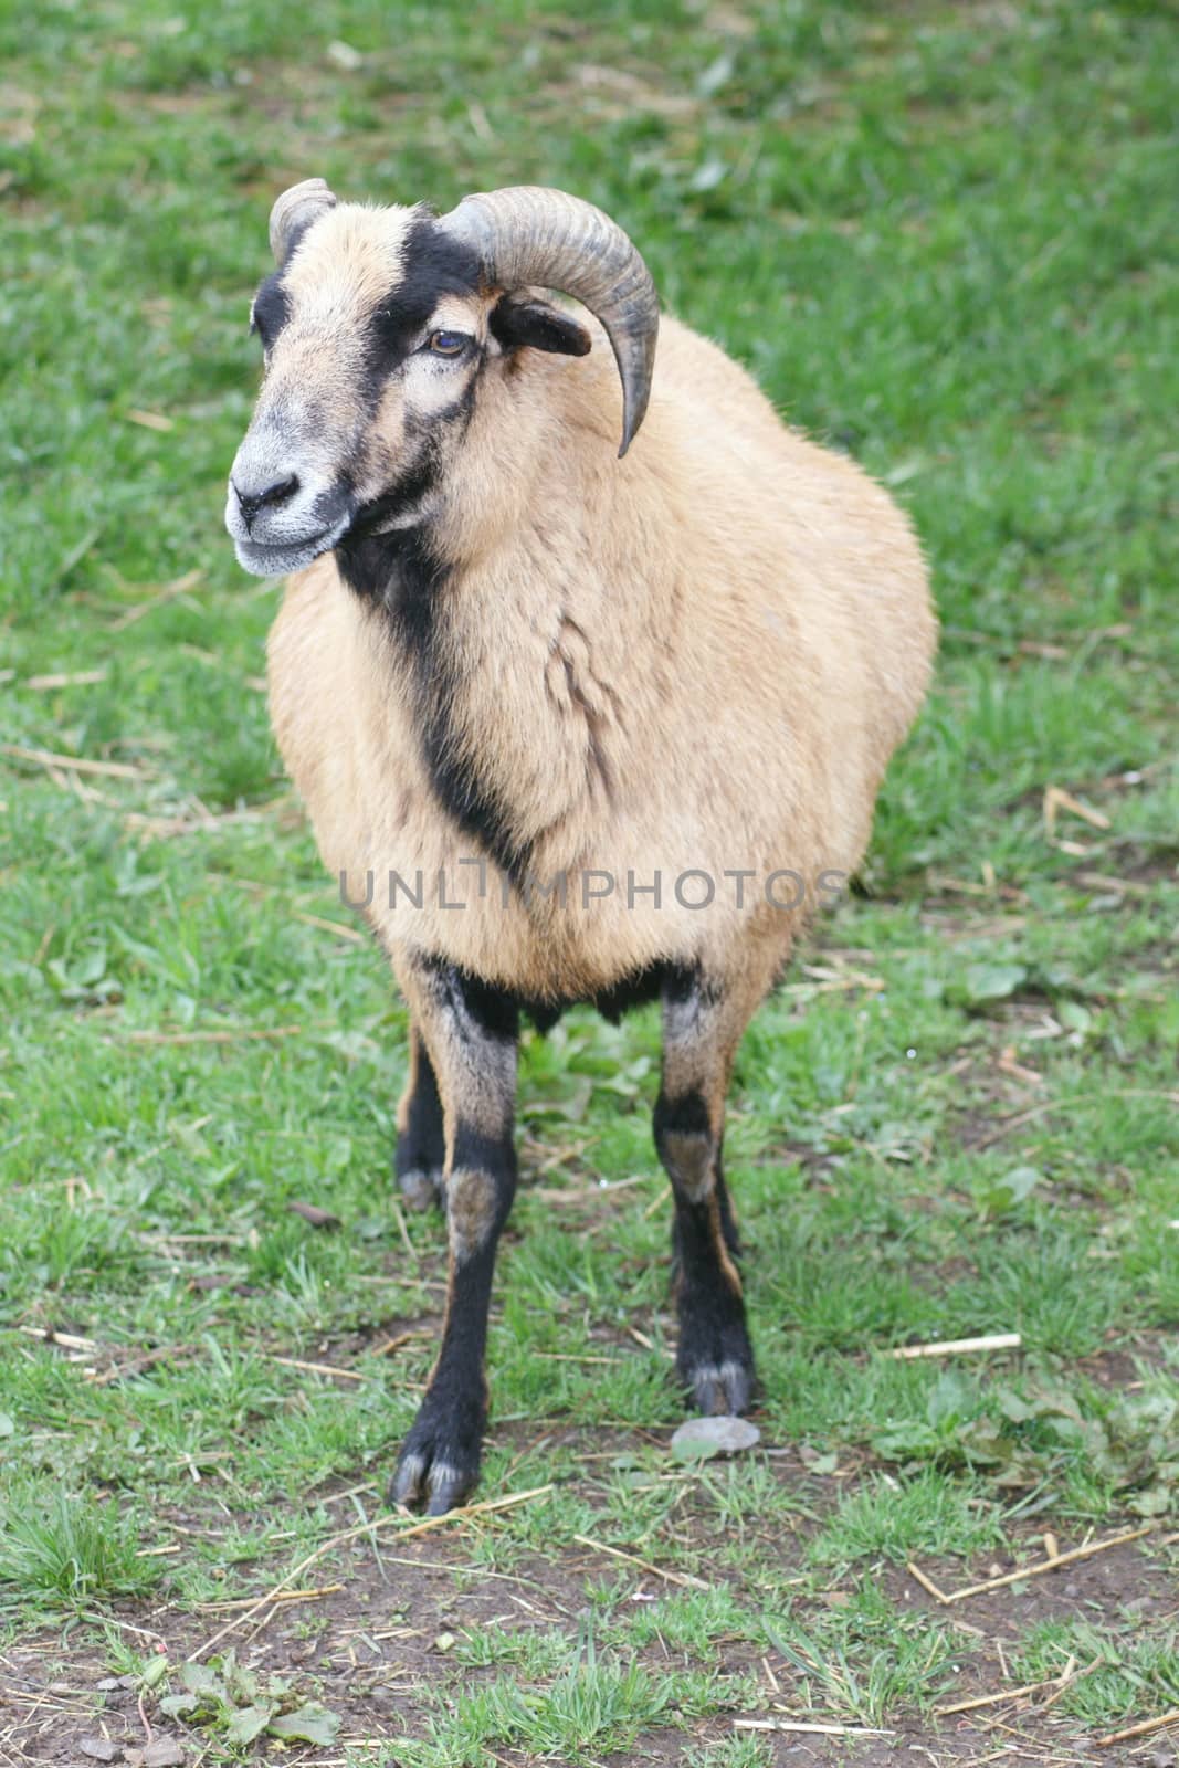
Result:
<svg viewBox="0 0 1179 1768">
<path fill-rule="evenodd" d="M 226 525 L 247 571 L 290 576 L 274 732 L 408 1004 L 396 1172 L 444 1200 L 449 1284 L 391 1501 L 442 1513 L 479 1473 L 525 1013 L 661 1001 L 677 1374 L 704 1413 L 749 1407 L 734 1055 L 859 865 L 935 619 L 887 493 L 659 329 L 590 203 L 514 187 L 437 216 L 313 179 L 270 244 Z"/>
</svg>

